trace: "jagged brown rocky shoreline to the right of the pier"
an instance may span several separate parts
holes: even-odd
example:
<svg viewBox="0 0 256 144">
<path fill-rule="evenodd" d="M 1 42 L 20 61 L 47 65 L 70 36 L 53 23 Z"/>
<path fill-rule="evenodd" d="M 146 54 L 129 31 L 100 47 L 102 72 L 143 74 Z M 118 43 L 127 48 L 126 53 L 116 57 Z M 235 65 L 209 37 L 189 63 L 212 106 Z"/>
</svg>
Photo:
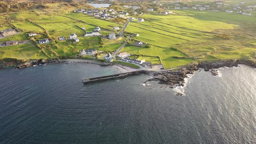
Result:
<svg viewBox="0 0 256 144">
<path fill-rule="evenodd" d="M 217 76 L 217 69 L 222 67 L 238 67 L 240 64 L 249 65 L 256 68 L 256 63 L 252 61 L 241 61 L 241 60 L 222 60 L 215 62 L 199 62 L 194 63 L 189 66 L 184 66 L 181 69 L 174 71 L 162 71 L 162 72 L 149 72 L 152 76 L 148 81 L 157 81 L 159 84 L 164 84 L 167 87 L 174 88 L 176 86 L 184 86 L 185 78 L 187 74 L 194 74 L 195 71 L 199 69 L 204 69 L 205 71 L 210 71 L 213 75 Z M 180 95 L 180 94 L 177 94 Z"/>
</svg>

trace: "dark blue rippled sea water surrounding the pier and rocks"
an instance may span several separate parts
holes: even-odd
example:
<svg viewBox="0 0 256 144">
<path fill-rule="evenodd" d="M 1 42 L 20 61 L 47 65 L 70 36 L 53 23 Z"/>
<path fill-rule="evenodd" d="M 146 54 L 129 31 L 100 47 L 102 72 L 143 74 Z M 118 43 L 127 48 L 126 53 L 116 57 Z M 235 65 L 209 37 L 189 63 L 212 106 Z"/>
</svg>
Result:
<svg viewBox="0 0 256 144">
<path fill-rule="evenodd" d="M 0 69 L 0 144 L 255 144 L 256 69 L 197 71 L 183 88 L 93 64 Z M 177 96 L 176 92 L 184 92 Z"/>
</svg>

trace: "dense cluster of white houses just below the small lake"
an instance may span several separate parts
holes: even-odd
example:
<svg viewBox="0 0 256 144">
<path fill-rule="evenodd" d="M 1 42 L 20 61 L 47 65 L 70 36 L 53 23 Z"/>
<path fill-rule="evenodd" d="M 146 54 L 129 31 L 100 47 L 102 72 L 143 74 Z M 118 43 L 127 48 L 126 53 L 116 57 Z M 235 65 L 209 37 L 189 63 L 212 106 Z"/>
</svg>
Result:
<svg viewBox="0 0 256 144">
<path fill-rule="evenodd" d="M 125 17 L 128 16 L 129 13 L 125 13 L 123 11 L 115 11 L 115 9 L 108 9 L 108 10 L 84 10 L 84 9 L 79 9 L 75 10 L 75 13 L 84 13 L 87 15 L 93 15 L 95 17 L 100 17 L 101 19 L 112 19 L 116 17 Z"/>
</svg>

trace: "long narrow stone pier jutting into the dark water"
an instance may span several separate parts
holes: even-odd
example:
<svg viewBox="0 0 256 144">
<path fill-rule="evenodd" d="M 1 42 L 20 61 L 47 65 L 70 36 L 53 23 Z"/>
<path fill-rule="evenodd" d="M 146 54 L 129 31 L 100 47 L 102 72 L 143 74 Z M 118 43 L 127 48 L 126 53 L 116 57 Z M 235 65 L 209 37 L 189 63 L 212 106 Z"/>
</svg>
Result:
<svg viewBox="0 0 256 144">
<path fill-rule="evenodd" d="M 113 74 L 113 75 L 98 76 L 98 77 L 93 77 L 93 78 L 83 78 L 82 81 L 84 83 L 95 82 L 95 81 L 107 80 L 107 79 L 113 79 L 113 78 L 122 78 L 122 77 L 131 76 L 131 75 L 139 75 L 143 72 L 144 72 L 144 70 L 139 70 L 139 71 L 124 72 L 124 73 Z"/>
</svg>

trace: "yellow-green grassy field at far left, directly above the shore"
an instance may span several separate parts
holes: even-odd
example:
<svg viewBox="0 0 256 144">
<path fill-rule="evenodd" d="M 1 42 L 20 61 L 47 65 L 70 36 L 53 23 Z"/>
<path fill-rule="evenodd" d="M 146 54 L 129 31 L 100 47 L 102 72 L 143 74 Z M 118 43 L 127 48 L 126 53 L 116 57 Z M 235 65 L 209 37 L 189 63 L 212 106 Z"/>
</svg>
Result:
<svg viewBox="0 0 256 144">
<path fill-rule="evenodd" d="M 0 59 L 41 59 L 47 58 L 44 53 L 34 45 L 24 44 L 17 46 L 0 47 Z"/>
</svg>

